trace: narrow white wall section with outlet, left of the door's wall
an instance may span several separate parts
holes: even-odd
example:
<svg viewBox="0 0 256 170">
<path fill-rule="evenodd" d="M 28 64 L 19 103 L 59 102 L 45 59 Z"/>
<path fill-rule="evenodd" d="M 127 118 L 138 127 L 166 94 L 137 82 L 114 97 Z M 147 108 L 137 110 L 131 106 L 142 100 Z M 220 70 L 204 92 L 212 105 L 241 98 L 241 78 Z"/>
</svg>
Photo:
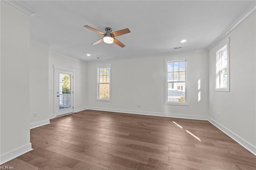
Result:
<svg viewBox="0 0 256 170">
<path fill-rule="evenodd" d="M 49 46 L 30 41 L 30 128 L 49 122 L 48 113 Z M 37 113 L 37 117 L 34 117 Z"/>
</svg>

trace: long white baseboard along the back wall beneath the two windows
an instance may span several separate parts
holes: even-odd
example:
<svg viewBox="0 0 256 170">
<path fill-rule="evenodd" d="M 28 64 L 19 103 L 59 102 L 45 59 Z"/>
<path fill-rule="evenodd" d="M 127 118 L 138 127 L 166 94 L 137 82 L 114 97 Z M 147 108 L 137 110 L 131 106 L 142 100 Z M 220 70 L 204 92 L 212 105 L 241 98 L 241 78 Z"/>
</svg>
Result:
<svg viewBox="0 0 256 170">
<path fill-rule="evenodd" d="M 172 113 L 157 113 L 157 112 L 146 112 L 146 111 L 130 111 L 130 110 L 106 109 L 106 108 L 98 108 L 98 107 L 87 107 L 87 109 L 96 110 L 96 111 L 110 111 L 110 112 L 118 112 L 118 113 L 131 113 L 131 114 L 137 114 L 137 115 L 175 117 L 175 118 L 182 118 L 182 119 L 196 119 L 196 120 L 208 121 L 208 117 L 206 116 L 180 115 L 180 114 L 172 114 Z"/>
</svg>

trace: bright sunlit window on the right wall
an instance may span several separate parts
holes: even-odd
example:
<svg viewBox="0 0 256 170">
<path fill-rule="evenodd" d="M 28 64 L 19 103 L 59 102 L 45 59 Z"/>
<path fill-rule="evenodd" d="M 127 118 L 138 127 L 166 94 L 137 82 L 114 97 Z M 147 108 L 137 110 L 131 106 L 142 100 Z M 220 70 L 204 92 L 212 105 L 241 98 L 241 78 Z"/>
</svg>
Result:
<svg viewBox="0 0 256 170">
<path fill-rule="evenodd" d="M 229 91 L 228 43 L 216 51 L 216 91 Z"/>
</svg>

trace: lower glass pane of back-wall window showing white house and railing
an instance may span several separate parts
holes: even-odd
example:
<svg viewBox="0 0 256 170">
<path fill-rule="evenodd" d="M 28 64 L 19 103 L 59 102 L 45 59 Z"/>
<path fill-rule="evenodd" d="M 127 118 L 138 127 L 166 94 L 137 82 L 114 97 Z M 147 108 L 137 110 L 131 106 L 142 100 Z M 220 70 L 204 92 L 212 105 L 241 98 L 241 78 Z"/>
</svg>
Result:
<svg viewBox="0 0 256 170">
<path fill-rule="evenodd" d="M 173 83 L 174 88 L 168 89 L 168 102 L 185 102 L 185 83 Z"/>
</svg>

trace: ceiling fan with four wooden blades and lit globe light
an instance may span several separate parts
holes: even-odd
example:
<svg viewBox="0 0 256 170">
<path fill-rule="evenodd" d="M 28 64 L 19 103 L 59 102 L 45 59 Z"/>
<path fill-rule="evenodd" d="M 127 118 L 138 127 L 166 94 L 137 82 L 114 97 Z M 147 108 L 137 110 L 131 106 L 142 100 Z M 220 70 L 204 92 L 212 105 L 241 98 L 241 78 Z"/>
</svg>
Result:
<svg viewBox="0 0 256 170">
<path fill-rule="evenodd" d="M 123 43 L 121 43 L 119 40 L 117 40 L 115 37 L 122 36 L 124 34 L 130 33 L 130 30 L 128 28 L 123 29 L 123 30 L 119 30 L 119 31 L 115 31 L 115 32 L 111 32 L 112 29 L 107 27 L 107 28 L 105 28 L 106 33 L 104 33 L 104 32 L 101 32 L 99 30 L 96 30 L 95 28 L 87 26 L 87 25 L 84 26 L 84 27 L 104 36 L 100 40 L 97 40 L 96 42 L 92 43 L 92 45 L 96 45 L 100 42 L 104 42 L 104 43 L 113 43 L 114 42 L 115 44 L 117 44 L 117 45 L 119 45 L 120 47 L 123 48 L 123 47 L 125 47 L 125 45 Z"/>
</svg>

